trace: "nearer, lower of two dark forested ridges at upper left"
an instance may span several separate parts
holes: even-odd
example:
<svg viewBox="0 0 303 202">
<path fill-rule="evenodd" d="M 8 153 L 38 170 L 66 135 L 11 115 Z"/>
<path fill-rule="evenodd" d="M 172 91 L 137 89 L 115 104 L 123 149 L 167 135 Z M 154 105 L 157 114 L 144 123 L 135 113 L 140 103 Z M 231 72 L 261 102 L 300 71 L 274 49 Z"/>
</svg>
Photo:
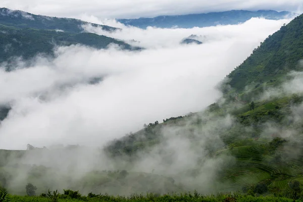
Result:
<svg viewBox="0 0 303 202">
<path fill-rule="evenodd" d="M 111 43 L 122 49 L 139 50 L 121 40 L 93 33 L 67 33 L 8 27 L 0 24 L 0 62 L 10 62 L 14 57 L 31 59 L 37 54 L 53 55 L 55 45 L 82 44 L 94 48 L 107 48 Z M 10 60 L 11 59 L 11 60 Z"/>
</svg>

